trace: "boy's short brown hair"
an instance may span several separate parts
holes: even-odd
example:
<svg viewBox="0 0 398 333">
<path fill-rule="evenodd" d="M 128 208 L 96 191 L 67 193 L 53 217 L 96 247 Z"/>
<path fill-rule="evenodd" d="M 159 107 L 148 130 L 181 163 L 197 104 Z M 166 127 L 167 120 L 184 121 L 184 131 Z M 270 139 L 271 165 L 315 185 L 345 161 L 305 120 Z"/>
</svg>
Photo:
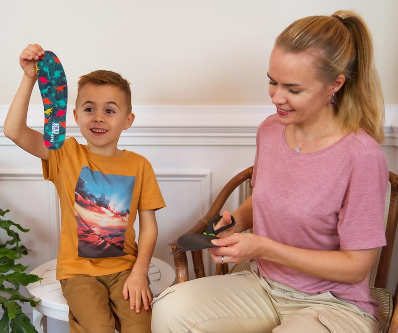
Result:
<svg viewBox="0 0 398 333">
<path fill-rule="evenodd" d="M 81 76 L 78 82 L 78 95 L 76 101 L 79 99 L 80 90 L 87 83 L 109 84 L 118 87 L 121 91 L 124 92 L 126 96 L 128 113 L 131 113 L 132 106 L 131 106 L 130 83 L 126 79 L 124 79 L 120 74 L 112 71 L 98 70 Z"/>
</svg>

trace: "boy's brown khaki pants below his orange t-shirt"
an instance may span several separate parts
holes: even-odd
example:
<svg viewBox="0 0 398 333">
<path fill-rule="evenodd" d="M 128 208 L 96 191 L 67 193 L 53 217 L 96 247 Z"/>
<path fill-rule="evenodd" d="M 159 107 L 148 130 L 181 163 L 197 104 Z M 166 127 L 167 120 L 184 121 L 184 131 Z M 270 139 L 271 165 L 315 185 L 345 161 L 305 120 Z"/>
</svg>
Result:
<svg viewBox="0 0 398 333">
<path fill-rule="evenodd" d="M 71 333 L 150 333 L 151 310 L 137 314 L 124 300 L 123 284 L 131 270 L 61 280 L 69 306 Z"/>
</svg>

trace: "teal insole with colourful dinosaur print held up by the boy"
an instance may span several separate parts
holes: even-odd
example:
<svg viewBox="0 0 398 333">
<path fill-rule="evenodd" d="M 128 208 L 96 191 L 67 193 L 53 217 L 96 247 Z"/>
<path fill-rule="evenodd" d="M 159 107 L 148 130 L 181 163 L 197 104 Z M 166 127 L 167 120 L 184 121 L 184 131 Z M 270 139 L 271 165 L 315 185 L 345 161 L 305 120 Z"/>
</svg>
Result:
<svg viewBox="0 0 398 333">
<path fill-rule="evenodd" d="M 65 72 L 58 57 L 45 51 L 36 63 L 36 75 L 44 106 L 44 144 L 56 150 L 64 143 L 66 132 L 68 87 Z"/>
</svg>

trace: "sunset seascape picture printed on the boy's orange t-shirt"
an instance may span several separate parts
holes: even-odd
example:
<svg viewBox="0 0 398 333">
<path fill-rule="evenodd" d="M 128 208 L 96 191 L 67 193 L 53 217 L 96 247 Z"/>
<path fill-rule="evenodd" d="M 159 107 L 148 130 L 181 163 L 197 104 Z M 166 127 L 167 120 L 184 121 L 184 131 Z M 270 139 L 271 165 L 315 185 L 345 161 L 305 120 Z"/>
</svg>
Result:
<svg viewBox="0 0 398 333">
<path fill-rule="evenodd" d="M 123 251 L 134 176 L 103 174 L 83 167 L 75 189 L 79 256 L 105 258 Z"/>
</svg>

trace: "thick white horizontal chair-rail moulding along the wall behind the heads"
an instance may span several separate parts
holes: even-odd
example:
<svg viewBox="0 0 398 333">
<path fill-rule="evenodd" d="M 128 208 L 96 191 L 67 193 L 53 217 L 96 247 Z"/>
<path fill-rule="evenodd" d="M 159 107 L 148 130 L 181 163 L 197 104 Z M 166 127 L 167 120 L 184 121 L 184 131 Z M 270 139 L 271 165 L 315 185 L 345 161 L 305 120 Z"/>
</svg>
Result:
<svg viewBox="0 0 398 333">
<path fill-rule="evenodd" d="M 0 146 L 13 145 L 4 137 L 9 105 L 0 105 Z M 85 142 L 68 107 L 67 136 Z M 398 147 L 398 104 L 386 105 L 384 146 Z M 263 106 L 162 106 L 133 107 L 133 126 L 120 137 L 121 146 L 255 146 L 257 127 L 275 112 Z M 31 105 L 27 122 L 37 131 L 43 128 L 43 107 Z"/>
</svg>

